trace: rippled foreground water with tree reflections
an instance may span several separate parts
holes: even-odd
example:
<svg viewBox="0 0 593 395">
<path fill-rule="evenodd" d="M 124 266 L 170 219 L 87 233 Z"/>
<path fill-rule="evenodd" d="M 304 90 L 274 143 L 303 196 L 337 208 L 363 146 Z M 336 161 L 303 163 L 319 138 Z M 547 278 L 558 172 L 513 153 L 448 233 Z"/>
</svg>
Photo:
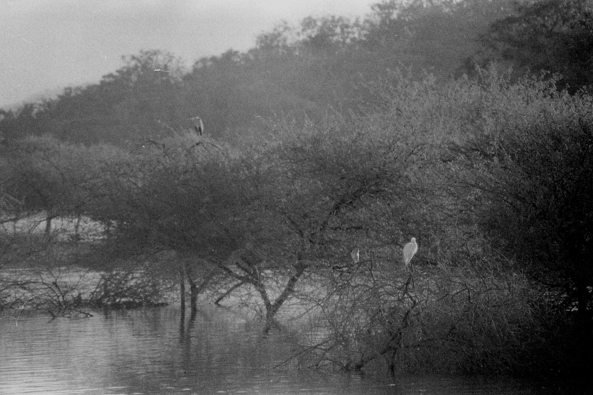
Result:
<svg viewBox="0 0 593 395">
<path fill-rule="evenodd" d="M 1 313 L 0 313 L 1 314 Z M 248 320 L 206 308 L 180 332 L 171 308 L 89 319 L 0 315 L 1 394 L 547 394 L 508 378 L 365 378 L 273 367 L 290 352 Z"/>
</svg>

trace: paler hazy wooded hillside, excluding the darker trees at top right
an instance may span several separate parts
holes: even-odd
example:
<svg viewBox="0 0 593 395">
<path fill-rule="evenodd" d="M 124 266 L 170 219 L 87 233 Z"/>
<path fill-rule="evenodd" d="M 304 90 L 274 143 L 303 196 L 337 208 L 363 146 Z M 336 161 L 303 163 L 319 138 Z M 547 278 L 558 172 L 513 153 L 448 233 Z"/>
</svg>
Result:
<svg viewBox="0 0 593 395">
<path fill-rule="evenodd" d="M 21 139 L 50 133 L 62 140 L 124 145 L 191 127 L 199 115 L 217 139 L 285 114 L 320 121 L 328 105 L 358 111 L 369 82 L 388 70 L 430 70 L 447 81 L 479 49 L 479 34 L 507 15 L 506 2 L 384 1 L 364 21 L 307 17 L 279 24 L 246 53 L 199 59 L 190 70 L 161 50 L 123 57 L 98 84 L 66 88 L 58 98 L 0 114 L 0 133 Z M 471 69 L 465 70 L 466 72 Z M 347 112 L 345 111 L 345 114 Z"/>
</svg>

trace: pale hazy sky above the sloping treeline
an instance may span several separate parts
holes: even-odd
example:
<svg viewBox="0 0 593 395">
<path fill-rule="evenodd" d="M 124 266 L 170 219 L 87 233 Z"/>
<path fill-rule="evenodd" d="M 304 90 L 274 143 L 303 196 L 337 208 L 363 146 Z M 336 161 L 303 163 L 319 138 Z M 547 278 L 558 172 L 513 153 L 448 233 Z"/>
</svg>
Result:
<svg viewBox="0 0 593 395">
<path fill-rule="evenodd" d="M 94 84 L 122 56 L 165 50 L 188 65 L 309 15 L 364 17 L 380 0 L 0 0 L 0 107 Z"/>
</svg>

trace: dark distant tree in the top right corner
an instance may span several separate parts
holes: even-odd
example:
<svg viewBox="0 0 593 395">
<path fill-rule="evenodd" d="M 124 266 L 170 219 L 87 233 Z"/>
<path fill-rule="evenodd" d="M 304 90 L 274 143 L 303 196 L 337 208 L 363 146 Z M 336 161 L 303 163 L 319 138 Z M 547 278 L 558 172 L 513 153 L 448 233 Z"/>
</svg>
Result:
<svg viewBox="0 0 593 395">
<path fill-rule="evenodd" d="M 482 43 L 474 64 L 502 60 L 521 72 L 557 73 L 557 87 L 569 92 L 593 84 L 593 8 L 587 0 L 517 2 L 512 15 L 490 25 Z"/>
</svg>

